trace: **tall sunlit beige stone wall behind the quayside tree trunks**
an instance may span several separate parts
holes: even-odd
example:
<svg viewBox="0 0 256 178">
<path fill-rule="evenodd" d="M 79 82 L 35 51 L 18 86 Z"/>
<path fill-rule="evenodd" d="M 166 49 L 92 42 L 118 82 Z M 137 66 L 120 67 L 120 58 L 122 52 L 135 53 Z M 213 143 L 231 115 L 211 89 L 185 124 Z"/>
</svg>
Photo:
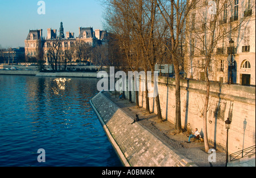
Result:
<svg viewBox="0 0 256 178">
<path fill-rule="evenodd" d="M 139 83 L 142 88 L 141 82 Z M 128 84 L 127 84 L 128 87 Z M 127 89 L 128 91 L 128 89 Z M 206 93 L 205 81 L 180 80 L 181 125 L 188 130 L 197 128 L 203 133 L 203 108 Z M 159 77 L 158 94 L 162 117 L 175 124 L 175 78 Z M 129 99 L 129 92 L 125 92 Z M 131 92 L 135 102 L 135 92 Z M 157 113 L 154 98 L 149 98 L 150 110 Z M 146 107 L 145 94 L 139 92 L 139 105 Z M 209 142 L 218 148 L 226 147 L 225 121 L 230 118 L 229 153 L 255 145 L 255 87 L 210 82 L 207 115 Z M 244 123 L 246 128 L 243 129 Z"/>
</svg>

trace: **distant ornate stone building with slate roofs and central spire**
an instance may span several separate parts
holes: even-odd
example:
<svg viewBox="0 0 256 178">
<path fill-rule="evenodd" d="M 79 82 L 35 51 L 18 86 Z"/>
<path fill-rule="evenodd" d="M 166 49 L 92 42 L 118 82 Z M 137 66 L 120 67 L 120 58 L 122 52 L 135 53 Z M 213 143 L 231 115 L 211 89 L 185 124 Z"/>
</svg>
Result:
<svg viewBox="0 0 256 178">
<path fill-rule="evenodd" d="M 75 37 L 73 32 L 66 32 L 64 35 L 63 23 L 60 23 L 59 35 L 57 35 L 56 29 L 47 28 L 47 38 L 43 37 L 43 30 L 30 30 L 28 32 L 27 38 L 24 41 L 25 43 L 25 57 L 26 59 L 30 57 L 38 57 L 40 50 L 44 52 L 44 61 L 48 63 L 48 49 L 49 45 L 53 42 L 60 42 L 61 44 L 61 53 L 65 53 L 65 50 L 71 45 L 78 47 L 79 45 L 86 44 L 89 47 L 96 47 L 97 45 L 106 45 L 108 44 L 108 33 L 102 30 L 93 31 L 92 27 L 82 28 L 79 27 L 79 36 Z M 76 53 L 74 50 L 72 53 Z M 73 56 L 73 60 L 76 60 L 76 55 Z M 64 57 L 64 56 L 62 56 Z"/>
</svg>

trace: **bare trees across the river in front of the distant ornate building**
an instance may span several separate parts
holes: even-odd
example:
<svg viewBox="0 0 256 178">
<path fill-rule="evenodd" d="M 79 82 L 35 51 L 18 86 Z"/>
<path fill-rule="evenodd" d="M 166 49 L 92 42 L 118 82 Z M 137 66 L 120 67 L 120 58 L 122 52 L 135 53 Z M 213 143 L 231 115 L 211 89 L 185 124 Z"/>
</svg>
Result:
<svg viewBox="0 0 256 178">
<path fill-rule="evenodd" d="M 68 63 L 76 61 L 78 63 L 84 63 L 90 61 L 95 65 L 103 65 L 108 63 L 108 46 L 107 45 L 97 45 L 92 47 L 90 44 L 73 40 L 71 42 L 63 42 L 63 40 L 48 40 L 46 42 L 47 49 L 47 59 L 49 65 L 51 65 L 53 71 L 59 70 L 61 66 L 64 66 L 64 70 L 67 69 Z M 38 48 L 38 59 L 43 59 L 40 55 L 40 50 L 43 48 Z"/>
</svg>

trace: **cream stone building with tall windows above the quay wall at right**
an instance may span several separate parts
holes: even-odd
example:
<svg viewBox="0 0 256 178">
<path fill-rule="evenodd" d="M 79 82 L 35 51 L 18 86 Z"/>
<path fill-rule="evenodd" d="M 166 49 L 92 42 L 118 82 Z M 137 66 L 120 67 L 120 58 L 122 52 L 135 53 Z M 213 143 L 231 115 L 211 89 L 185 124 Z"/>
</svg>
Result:
<svg viewBox="0 0 256 178">
<path fill-rule="evenodd" d="M 205 80 L 211 53 L 209 80 L 255 85 L 255 0 L 196 2 L 186 26 L 187 77 Z"/>
</svg>

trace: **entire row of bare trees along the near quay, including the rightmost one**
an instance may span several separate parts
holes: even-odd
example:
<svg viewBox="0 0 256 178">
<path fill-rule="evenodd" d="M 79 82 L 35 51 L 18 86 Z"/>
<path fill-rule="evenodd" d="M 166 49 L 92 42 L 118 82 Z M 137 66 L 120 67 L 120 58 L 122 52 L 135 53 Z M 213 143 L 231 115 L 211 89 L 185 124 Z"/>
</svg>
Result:
<svg viewBox="0 0 256 178">
<path fill-rule="evenodd" d="M 184 65 L 189 70 L 196 68 L 193 59 L 191 64 L 184 64 L 183 50 L 185 53 L 193 52 L 191 58 L 195 55 L 194 51 L 197 50 L 200 53 L 199 56 L 204 59 L 200 68 L 204 71 L 207 91 L 202 115 L 205 151 L 208 152 L 209 65 L 214 63 L 213 52 L 220 40 L 227 36 L 237 38 L 235 34 L 244 28 L 246 18 L 240 16 L 238 22 L 233 23 L 232 20 L 228 20 L 229 23 L 222 26 L 222 20 L 227 20 L 228 15 L 231 19 L 234 11 L 238 10 L 234 9 L 238 1 L 210 1 L 213 4 L 205 4 L 205 2 L 197 0 L 107 0 L 105 21 L 106 28 L 117 39 L 119 49 L 122 51 L 122 59 L 127 63 L 127 70 L 147 73 L 146 71 L 154 71 L 156 63 L 174 65 L 177 133 L 182 131 L 180 70 Z M 200 26 L 200 30 L 195 26 Z M 204 27 L 203 30 L 201 27 Z M 184 44 L 188 45 L 184 47 Z M 147 88 L 145 96 L 146 112 L 149 113 Z M 138 93 L 136 93 L 136 98 L 138 106 Z M 155 97 L 155 102 L 160 121 L 162 114 L 159 96 Z"/>
</svg>

